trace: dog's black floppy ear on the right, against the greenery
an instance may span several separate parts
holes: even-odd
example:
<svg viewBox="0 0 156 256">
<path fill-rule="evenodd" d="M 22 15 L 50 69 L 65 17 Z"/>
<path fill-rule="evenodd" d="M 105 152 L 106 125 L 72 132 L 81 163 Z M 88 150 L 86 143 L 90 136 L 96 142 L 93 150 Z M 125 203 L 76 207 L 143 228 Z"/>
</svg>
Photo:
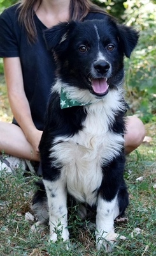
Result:
<svg viewBox="0 0 156 256">
<path fill-rule="evenodd" d="M 124 54 L 127 58 L 130 58 L 132 51 L 138 43 L 139 32 L 125 25 L 118 25 L 118 31 L 118 40 L 122 49 L 124 49 Z"/>
</svg>

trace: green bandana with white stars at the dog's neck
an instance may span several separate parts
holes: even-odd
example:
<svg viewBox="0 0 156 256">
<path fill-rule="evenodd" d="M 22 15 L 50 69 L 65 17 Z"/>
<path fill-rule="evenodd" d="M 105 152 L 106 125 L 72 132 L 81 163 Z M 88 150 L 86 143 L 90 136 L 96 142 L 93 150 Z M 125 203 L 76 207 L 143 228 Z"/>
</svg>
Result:
<svg viewBox="0 0 156 256">
<path fill-rule="evenodd" d="M 65 92 L 64 88 L 61 88 L 60 90 L 60 108 L 71 108 L 74 106 L 85 106 L 85 105 L 90 105 L 90 103 L 82 103 L 78 102 L 74 99 L 70 99 L 68 93 Z"/>
</svg>

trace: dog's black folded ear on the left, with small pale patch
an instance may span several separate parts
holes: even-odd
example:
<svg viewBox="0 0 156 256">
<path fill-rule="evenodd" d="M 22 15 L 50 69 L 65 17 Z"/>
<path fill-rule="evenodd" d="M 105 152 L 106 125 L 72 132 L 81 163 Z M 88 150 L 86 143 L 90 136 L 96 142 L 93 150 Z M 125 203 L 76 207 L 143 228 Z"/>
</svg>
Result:
<svg viewBox="0 0 156 256">
<path fill-rule="evenodd" d="M 48 50 L 55 51 L 63 44 L 64 50 L 67 47 L 67 37 L 76 26 L 76 22 L 60 22 L 58 25 L 50 29 L 46 29 L 44 37 Z"/>
</svg>

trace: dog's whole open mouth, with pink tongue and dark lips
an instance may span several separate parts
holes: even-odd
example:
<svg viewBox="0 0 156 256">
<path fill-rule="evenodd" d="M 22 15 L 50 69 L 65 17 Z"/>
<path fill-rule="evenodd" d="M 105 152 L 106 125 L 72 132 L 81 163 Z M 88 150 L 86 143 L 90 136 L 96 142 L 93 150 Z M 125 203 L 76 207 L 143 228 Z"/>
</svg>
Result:
<svg viewBox="0 0 156 256">
<path fill-rule="evenodd" d="M 109 91 L 108 79 L 106 78 L 92 78 L 89 79 L 91 82 L 91 93 L 103 97 Z"/>
</svg>

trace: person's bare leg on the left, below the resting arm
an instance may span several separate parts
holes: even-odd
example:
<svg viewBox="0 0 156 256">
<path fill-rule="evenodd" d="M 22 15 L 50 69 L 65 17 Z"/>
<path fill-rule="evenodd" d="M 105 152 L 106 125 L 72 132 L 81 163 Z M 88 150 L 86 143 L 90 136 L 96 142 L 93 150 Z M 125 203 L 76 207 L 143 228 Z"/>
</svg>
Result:
<svg viewBox="0 0 156 256">
<path fill-rule="evenodd" d="M 24 132 L 15 124 L 0 122 L 0 154 L 39 161 L 31 144 L 26 140 Z"/>
</svg>

